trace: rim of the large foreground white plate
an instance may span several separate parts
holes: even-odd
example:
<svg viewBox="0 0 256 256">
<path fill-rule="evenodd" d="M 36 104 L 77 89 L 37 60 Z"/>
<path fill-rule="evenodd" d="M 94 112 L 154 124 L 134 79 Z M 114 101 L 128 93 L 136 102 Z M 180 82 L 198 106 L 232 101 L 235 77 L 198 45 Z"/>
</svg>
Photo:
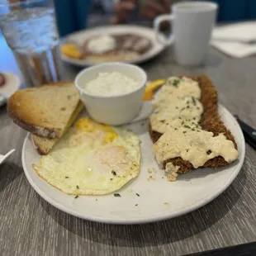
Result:
<svg viewBox="0 0 256 256">
<path fill-rule="evenodd" d="M 198 201 L 197 203 L 195 203 L 192 206 L 187 206 L 186 208 L 183 208 L 181 210 L 175 211 L 171 214 L 164 214 L 162 216 L 151 216 L 149 218 L 137 218 L 137 219 L 130 219 L 130 220 L 114 220 L 114 219 L 110 219 L 110 218 L 104 218 L 104 217 L 98 217 L 98 216 L 84 216 L 84 214 L 79 213 L 78 211 L 72 210 L 67 206 L 62 205 L 61 203 L 59 203 L 58 201 L 55 201 L 54 199 L 52 199 L 51 197 L 49 197 L 48 195 L 46 195 L 39 186 L 36 185 L 36 183 L 33 182 L 29 171 L 26 169 L 26 164 L 25 164 L 25 145 L 26 145 L 26 141 L 29 138 L 30 133 L 27 133 L 26 138 L 23 142 L 22 145 L 22 153 L 21 153 L 21 162 L 22 162 L 22 167 L 24 170 L 24 173 L 26 175 L 26 178 L 28 180 L 28 182 L 31 184 L 31 187 L 33 187 L 35 189 L 35 191 L 40 195 L 40 197 L 42 197 L 45 201 L 49 202 L 50 205 L 55 206 L 56 208 L 58 208 L 60 211 L 64 211 L 66 213 L 68 213 L 69 215 L 72 216 L 76 216 L 78 218 L 81 218 L 83 220 L 90 220 L 90 221 L 94 221 L 94 222 L 100 222 L 100 223 L 105 223 L 105 224 L 118 224 L 118 225 L 136 225 L 136 224 L 146 224 L 146 223 L 153 223 L 153 222 L 157 222 L 157 221 L 161 221 L 161 220 L 170 220 L 173 219 L 175 217 L 178 216 L 183 216 L 189 212 L 195 211 L 199 208 L 201 208 L 202 206 L 205 206 L 206 204 L 208 204 L 210 201 L 213 201 L 214 199 L 216 199 L 216 197 L 219 197 L 221 193 L 223 193 L 225 191 L 225 189 L 227 187 L 230 186 L 231 183 L 233 183 L 233 181 L 235 180 L 235 178 L 238 176 L 239 171 L 241 170 L 243 164 L 244 164 L 244 158 L 245 158 L 245 140 L 244 140 L 244 134 L 238 124 L 238 122 L 236 121 L 235 117 L 230 113 L 230 111 L 228 111 L 223 105 L 218 104 L 218 106 L 220 107 L 221 111 L 225 111 L 226 114 L 228 114 L 228 116 L 232 119 L 232 121 L 234 121 L 239 134 L 241 136 L 242 139 L 242 145 L 241 145 L 241 153 L 239 156 L 239 164 L 235 169 L 235 172 L 232 173 L 232 175 L 230 176 L 229 179 L 227 179 L 226 183 L 224 184 L 223 187 L 221 187 L 218 191 L 216 191 L 213 195 L 202 198 L 200 201 Z"/>
</svg>

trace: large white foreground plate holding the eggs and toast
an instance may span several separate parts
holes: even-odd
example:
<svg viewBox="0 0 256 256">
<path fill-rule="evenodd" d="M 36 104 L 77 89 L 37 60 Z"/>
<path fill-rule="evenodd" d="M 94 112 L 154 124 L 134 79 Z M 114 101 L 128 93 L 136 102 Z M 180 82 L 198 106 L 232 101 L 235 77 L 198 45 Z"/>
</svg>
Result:
<svg viewBox="0 0 256 256">
<path fill-rule="evenodd" d="M 51 187 L 40 178 L 31 167 L 38 164 L 37 154 L 31 142 L 31 135 L 26 136 L 22 149 L 22 164 L 26 178 L 51 205 L 73 216 L 86 220 L 116 224 L 141 224 L 181 216 L 206 205 L 218 197 L 230 186 L 244 162 L 244 135 L 239 124 L 225 107 L 219 107 L 220 116 L 225 125 L 235 136 L 239 149 L 239 160 L 224 168 L 198 168 L 178 176 L 170 183 L 164 177 L 154 160 L 152 142 L 145 121 L 128 126 L 141 140 L 141 170 L 135 180 L 128 183 L 121 191 L 121 197 L 80 196 L 77 199 Z M 152 172 L 152 173 L 149 173 Z M 152 178 L 149 178 L 152 176 Z M 140 197 L 138 195 L 140 195 Z"/>
</svg>

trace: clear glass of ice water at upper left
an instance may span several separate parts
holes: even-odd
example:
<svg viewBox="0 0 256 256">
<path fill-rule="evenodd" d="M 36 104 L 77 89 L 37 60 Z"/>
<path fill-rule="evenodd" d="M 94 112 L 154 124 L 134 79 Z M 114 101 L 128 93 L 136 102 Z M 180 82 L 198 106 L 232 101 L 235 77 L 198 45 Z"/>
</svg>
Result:
<svg viewBox="0 0 256 256">
<path fill-rule="evenodd" d="M 27 87 L 61 80 L 59 35 L 48 0 L 0 0 L 0 28 Z"/>
</svg>

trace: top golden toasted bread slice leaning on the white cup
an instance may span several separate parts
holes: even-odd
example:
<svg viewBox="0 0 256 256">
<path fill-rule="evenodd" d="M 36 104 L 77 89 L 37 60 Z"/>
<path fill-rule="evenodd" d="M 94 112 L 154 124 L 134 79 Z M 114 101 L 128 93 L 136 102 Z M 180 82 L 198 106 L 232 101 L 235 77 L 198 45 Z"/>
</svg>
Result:
<svg viewBox="0 0 256 256">
<path fill-rule="evenodd" d="M 21 128 L 54 139 L 63 135 L 78 103 L 73 83 L 50 83 L 15 92 L 7 103 L 7 111 Z"/>
</svg>

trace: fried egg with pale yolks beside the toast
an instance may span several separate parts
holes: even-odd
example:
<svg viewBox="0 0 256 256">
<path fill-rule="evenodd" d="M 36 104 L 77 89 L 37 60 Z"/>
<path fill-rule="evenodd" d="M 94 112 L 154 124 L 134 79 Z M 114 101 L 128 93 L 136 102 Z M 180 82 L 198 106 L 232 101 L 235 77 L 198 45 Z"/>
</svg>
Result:
<svg viewBox="0 0 256 256">
<path fill-rule="evenodd" d="M 130 130 L 81 118 L 33 168 L 67 194 L 105 195 L 140 173 L 140 140 Z"/>
</svg>

